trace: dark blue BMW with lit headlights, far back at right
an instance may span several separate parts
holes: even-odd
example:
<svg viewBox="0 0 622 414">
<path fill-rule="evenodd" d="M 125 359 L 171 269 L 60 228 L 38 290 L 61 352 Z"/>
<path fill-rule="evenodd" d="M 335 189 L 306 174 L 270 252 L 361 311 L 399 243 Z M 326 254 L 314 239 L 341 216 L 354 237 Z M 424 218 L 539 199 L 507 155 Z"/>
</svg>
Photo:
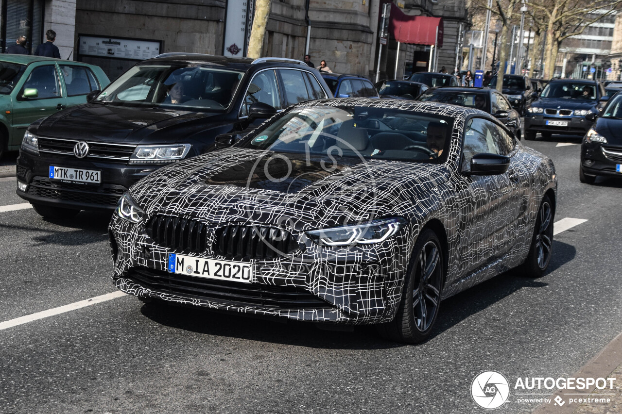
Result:
<svg viewBox="0 0 622 414">
<path fill-rule="evenodd" d="M 608 99 L 598 81 L 559 79 L 544 88 L 525 116 L 525 139 L 536 139 L 536 133 L 583 136 L 592 126 L 588 114 L 598 113 L 599 101 Z"/>
</svg>

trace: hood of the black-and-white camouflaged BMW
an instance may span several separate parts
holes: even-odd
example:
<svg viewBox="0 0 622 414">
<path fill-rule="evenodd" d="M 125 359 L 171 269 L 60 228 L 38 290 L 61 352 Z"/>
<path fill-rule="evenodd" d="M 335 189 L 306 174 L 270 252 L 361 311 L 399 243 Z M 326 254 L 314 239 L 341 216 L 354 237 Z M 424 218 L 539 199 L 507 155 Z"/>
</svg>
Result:
<svg viewBox="0 0 622 414">
<path fill-rule="evenodd" d="M 149 215 L 290 223 L 304 231 L 318 223 L 337 226 L 412 215 L 417 194 L 428 193 L 448 175 L 442 164 L 355 158 L 333 163 L 304 154 L 232 148 L 161 168 L 130 192 Z"/>
</svg>

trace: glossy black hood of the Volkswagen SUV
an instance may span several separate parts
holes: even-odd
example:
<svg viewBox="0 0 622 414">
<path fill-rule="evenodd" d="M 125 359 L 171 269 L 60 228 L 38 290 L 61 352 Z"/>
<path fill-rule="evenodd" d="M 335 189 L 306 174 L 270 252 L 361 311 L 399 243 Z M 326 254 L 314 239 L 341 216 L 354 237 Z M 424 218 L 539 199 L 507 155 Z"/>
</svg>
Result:
<svg viewBox="0 0 622 414">
<path fill-rule="evenodd" d="M 119 144 L 175 142 L 223 116 L 215 113 L 86 103 L 45 118 L 36 133 L 46 137 L 106 141 Z M 209 119 L 213 118 L 213 120 Z M 174 133 L 169 132 L 174 129 Z"/>
</svg>

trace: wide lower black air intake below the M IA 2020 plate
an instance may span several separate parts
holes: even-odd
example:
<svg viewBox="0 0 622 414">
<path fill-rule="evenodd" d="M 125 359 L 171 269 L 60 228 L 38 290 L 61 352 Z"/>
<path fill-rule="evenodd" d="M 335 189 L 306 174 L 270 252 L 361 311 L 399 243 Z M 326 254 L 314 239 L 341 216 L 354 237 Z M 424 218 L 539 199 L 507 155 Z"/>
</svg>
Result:
<svg viewBox="0 0 622 414">
<path fill-rule="evenodd" d="M 190 275 L 173 274 L 162 270 L 137 267 L 127 276 L 132 282 L 173 295 L 188 295 L 207 300 L 221 300 L 240 305 L 279 309 L 330 309 L 329 303 L 302 288 L 268 286 L 258 283 L 236 283 Z"/>
</svg>

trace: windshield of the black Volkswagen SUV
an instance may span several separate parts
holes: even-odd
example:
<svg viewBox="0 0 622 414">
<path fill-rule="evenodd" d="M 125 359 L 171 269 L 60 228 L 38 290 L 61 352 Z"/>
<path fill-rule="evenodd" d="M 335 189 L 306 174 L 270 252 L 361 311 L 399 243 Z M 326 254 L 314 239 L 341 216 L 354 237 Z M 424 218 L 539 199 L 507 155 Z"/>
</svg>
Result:
<svg viewBox="0 0 622 414">
<path fill-rule="evenodd" d="M 118 105 L 220 110 L 231 104 L 243 72 L 172 63 L 137 65 L 104 89 L 95 100 Z"/>
</svg>

